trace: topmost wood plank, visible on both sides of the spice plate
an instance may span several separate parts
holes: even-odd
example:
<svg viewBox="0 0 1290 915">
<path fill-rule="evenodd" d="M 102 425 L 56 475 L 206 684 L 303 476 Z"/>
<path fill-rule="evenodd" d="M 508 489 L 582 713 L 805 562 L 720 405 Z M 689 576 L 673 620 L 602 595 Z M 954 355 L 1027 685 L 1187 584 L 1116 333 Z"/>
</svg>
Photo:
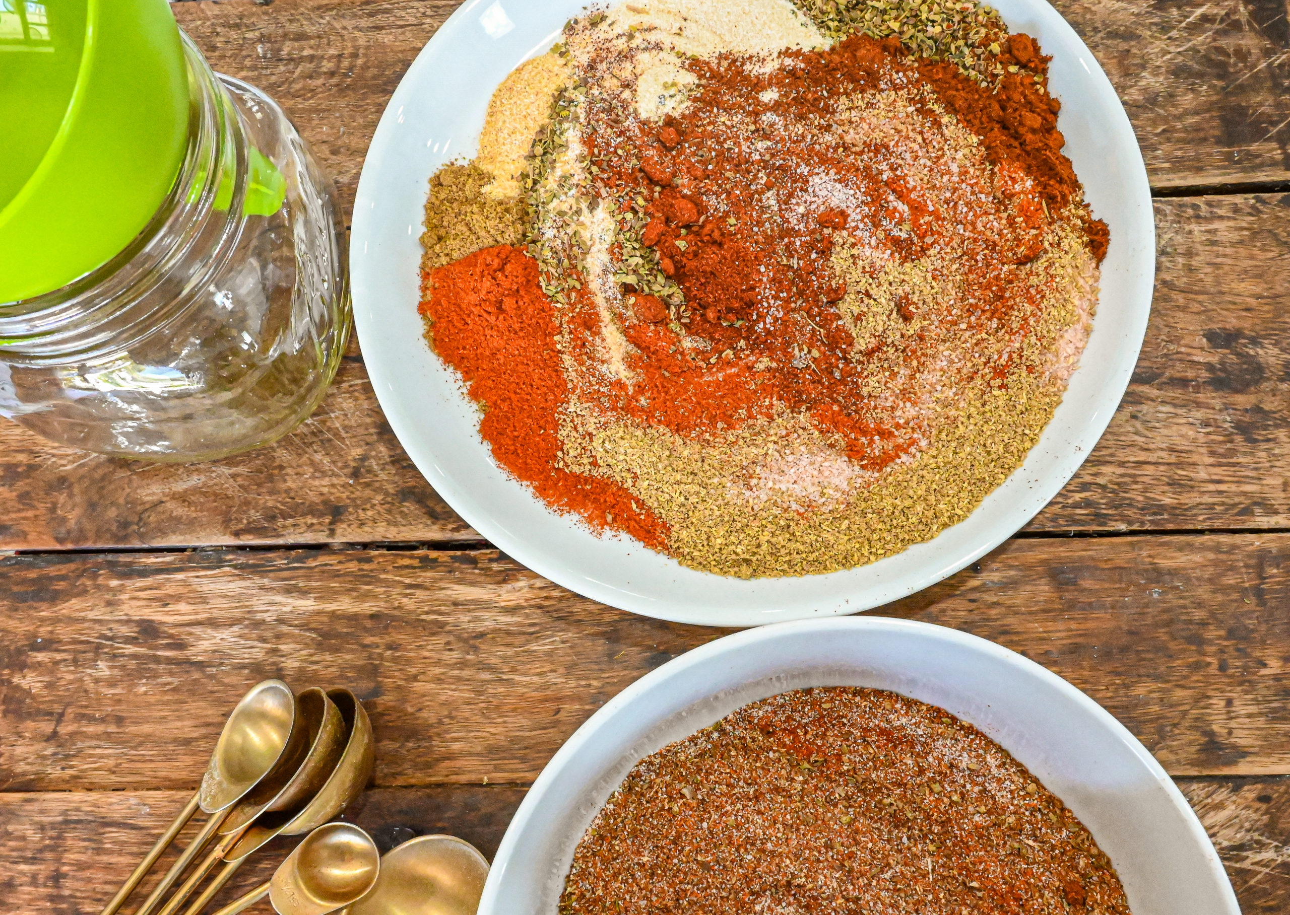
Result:
<svg viewBox="0 0 1290 915">
<path fill-rule="evenodd" d="M 455 0 L 175 4 L 223 72 L 286 108 L 348 206 L 386 101 Z M 1138 133 L 1152 184 L 1290 179 L 1284 0 L 1062 0 Z"/>
</svg>

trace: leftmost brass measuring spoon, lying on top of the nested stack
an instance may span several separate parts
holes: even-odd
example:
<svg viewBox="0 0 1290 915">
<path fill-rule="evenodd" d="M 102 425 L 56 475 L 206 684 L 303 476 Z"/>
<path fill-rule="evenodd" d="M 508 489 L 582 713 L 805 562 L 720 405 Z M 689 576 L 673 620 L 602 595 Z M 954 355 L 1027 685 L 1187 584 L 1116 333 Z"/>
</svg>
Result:
<svg viewBox="0 0 1290 915">
<path fill-rule="evenodd" d="M 174 862 L 157 884 L 139 912 L 156 905 L 179 875 L 192 863 L 231 808 L 268 775 L 286 750 L 295 724 L 295 696 L 281 680 L 263 680 L 253 686 L 237 702 L 224 722 L 219 741 L 210 754 L 201 787 L 192 795 L 179 816 L 161 834 L 156 844 L 143 856 L 143 861 L 125 880 L 116 896 L 104 906 L 102 915 L 116 915 L 130 893 L 142 883 L 165 849 L 178 838 L 183 827 L 196 814 L 197 808 L 210 814 L 205 826 Z"/>
</svg>

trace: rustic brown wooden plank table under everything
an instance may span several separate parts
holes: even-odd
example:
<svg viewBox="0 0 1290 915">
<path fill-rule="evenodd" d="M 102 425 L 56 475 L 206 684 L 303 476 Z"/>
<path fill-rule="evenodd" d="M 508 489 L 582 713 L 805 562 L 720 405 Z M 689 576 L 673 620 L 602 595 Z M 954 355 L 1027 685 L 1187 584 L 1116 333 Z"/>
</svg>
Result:
<svg viewBox="0 0 1290 915">
<path fill-rule="evenodd" d="M 353 198 L 377 119 L 453 0 L 181 3 Z M 1285 0 L 1063 0 L 1156 193 L 1124 405 L 1022 534 L 884 607 L 1085 689 L 1196 807 L 1246 912 L 1290 911 L 1290 24 Z M 640 619 L 484 543 L 418 476 L 357 345 L 279 445 L 196 467 L 0 424 L 0 909 L 97 912 L 266 677 L 351 686 L 378 737 L 351 816 L 497 848 L 574 728 L 721 631 Z M 286 847 L 286 845 L 284 845 Z M 273 856 L 244 869 L 249 885 Z"/>
</svg>

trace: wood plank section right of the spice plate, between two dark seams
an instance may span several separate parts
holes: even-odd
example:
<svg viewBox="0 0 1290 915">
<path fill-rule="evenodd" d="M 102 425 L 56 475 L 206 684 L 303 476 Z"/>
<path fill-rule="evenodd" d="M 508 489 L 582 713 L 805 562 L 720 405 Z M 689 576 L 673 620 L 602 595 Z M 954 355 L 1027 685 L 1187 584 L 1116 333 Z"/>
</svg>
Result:
<svg viewBox="0 0 1290 915">
<path fill-rule="evenodd" d="M 1156 231 L 1133 383 L 1029 530 L 1290 527 L 1290 195 L 1161 200 Z"/>
</svg>

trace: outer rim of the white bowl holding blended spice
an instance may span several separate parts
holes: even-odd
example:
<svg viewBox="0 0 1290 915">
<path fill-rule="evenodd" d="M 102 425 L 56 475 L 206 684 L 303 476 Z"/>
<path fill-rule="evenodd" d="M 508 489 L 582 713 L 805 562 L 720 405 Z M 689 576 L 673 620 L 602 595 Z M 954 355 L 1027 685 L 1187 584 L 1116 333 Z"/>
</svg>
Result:
<svg viewBox="0 0 1290 915">
<path fill-rule="evenodd" d="M 995 642 L 960 631 L 957 629 L 949 629 L 947 626 L 921 622 L 917 620 L 900 620 L 888 616 L 795 620 L 760 626 L 756 629 L 747 629 L 715 639 L 699 646 L 698 648 L 693 648 L 691 651 L 672 659 L 667 664 L 660 665 L 631 683 L 627 688 L 602 705 L 591 718 L 583 722 L 577 731 L 574 731 L 574 733 L 560 746 L 556 754 L 538 775 L 538 778 L 533 782 L 533 787 L 530 787 L 525 794 L 524 800 L 520 802 L 519 809 L 516 809 L 515 816 L 511 818 L 511 824 L 507 826 L 506 834 L 502 836 L 497 854 L 493 857 L 493 866 L 489 871 L 488 881 L 484 885 L 482 897 L 480 898 L 480 915 L 494 915 L 498 903 L 498 894 L 503 880 L 507 878 L 507 866 L 515 857 L 517 849 L 521 848 L 521 843 L 525 842 L 526 833 L 530 829 L 534 817 L 539 816 L 538 812 L 542 808 L 544 799 L 552 793 L 560 780 L 565 777 L 565 769 L 584 753 L 595 751 L 601 740 L 602 732 L 605 732 L 605 729 L 609 728 L 620 715 L 630 713 L 635 704 L 663 688 L 668 680 L 684 679 L 686 673 L 695 668 L 711 670 L 712 668 L 719 666 L 719 661 L 722 657 L 755 651 L 759 644 L 774 643 L 802 633 L 814 633 L 820 639 L 827 639 L 831 634 L 845 637 L 854 630 L 868 634 L 881 633 L 906 635 L 915 640 L 922 639 L 928 642 L 940 642 L 942 644 L 951 646 L 956 651 L 965 655 L 975 655 L 980 657 L 984 664 L 995 662 L 1010 666 L 1022 674 L 1033 678 L 1037 684 L 1049 687 L 1058 692 L 1063 698 L 1073 702 L 1081 713 L 1087 715 L 1090 727 L 1102 728 L 1142 764 L 1144 773 L 1152 778 L 1153 782 L 1158 784 L 1160 789 L 1167 796 L 1170 805 L 1183 818 L 1187 838 L 1201 851 L 1207 876 L 1213 884 L 1219 888 L 1219 896 L 1224 903 L 1222 914 L 1213 912 L 1211 915 L 1240 915 L 1241 910 L 1236 898 L 1236 892 L 1232 889 L 1232 884 L 1227 876 L 1226 869 L 1223 867 L 1223 862 L 1219 858 L 1218 852 L 1214 849 L 1214 844 L 1210 842 L 1209 834 L 1197 818 L 1196 812 L 1191 808 L 1191 804 L 1187 803 L 1183 793 L 1178 789 L 1178 785 L 1174 784 L 1174 780 L 1170 778 L 1169 773 L 1165 772 L 1164 767 L 1153 755 L 1151 755 L 1147 747 L 1143 746 L 1142 742 L 1134 737 L 1124 724 L 1120 723 L 1115 715 L 1103 709 L 1098 702 L 1089 697 L 1087 693 L 1024 655 L 1019 655 L 1018 652 L 1005 648 Z M 915 696 L 915 698 L 917 698 L 917 696 Z M 698 727 L 711 723 L 711 717 L 704 718 L 700 724 L 691 727 L 690 731 L 693 732 L 698 729 Z M 1005 749 L 1009 747 L 1005 746 Z"/>
</svg>

